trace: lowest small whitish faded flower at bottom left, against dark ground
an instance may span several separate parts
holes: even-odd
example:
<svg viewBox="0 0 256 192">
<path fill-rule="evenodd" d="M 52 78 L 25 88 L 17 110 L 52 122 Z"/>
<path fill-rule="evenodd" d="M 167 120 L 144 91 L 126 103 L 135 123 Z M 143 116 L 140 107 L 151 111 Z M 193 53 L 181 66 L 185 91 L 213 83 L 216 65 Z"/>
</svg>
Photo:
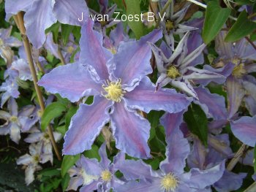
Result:
<svg viewBox="0 0 256 192">
<path fill-rule="evenodd" d="M 18 165 L 23 165 L 25 168 L 26 185 L 34 181 L 34 172 L 42 169 L 39 163 L 45 164 L 48 161 L 48 154 L 42 153 L 40 145 L 29 145 L 29 153 L 22 155 L 16 161 Z"/>
</svg>

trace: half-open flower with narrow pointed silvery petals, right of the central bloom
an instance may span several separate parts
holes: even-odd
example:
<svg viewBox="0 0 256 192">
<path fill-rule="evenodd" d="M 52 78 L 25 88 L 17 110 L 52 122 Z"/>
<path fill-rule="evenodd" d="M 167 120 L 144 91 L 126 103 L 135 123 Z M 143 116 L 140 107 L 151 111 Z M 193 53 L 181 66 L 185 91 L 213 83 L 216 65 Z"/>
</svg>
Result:
<svg viewBox="0 0 256 192">
<path fill-rule="evenodd" d="M 161 45 L 162 50 L 151 44 L 159 72 L 159 78 L 156 83 L 157 88 L 170 83 L 173 87 L 179 88 L 189 96 L 198 99 L 197 93 L 193 88 L 194 80 L 224 78 L 221 74 L 195 68 L 197 64 L 203 64 L 203 61 L 198 56 L 206 45 L 202 44 L 195 50 L 187 49 L 187 45 L 197 42 L 198 38 L 200 38 L 200 35 L 196 33 L 192 38 L 189 38 L 189 33 L 185 34 L 173 53 L 165 44 Z"/>
</svg>

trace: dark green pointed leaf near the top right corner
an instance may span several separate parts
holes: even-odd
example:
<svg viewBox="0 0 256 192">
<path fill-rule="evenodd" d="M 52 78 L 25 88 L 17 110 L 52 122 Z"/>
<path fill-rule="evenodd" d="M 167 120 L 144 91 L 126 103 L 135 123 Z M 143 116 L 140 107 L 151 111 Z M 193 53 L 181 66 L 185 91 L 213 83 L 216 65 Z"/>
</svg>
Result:
<svg viewBox="0 0 256 192">
<path fill-rule="evenodd" d="M 256 23 L 247 18 L 247 13 L 244 10 L 240 13 L 236 23 L 230 28 L 230 31 L 228 31 L 227 36 L 225 37 L 225 42 L 236 42 L 239 39 L 246 37 L 246 35 L 251 34 L 255 29 Z"/>
</svg>

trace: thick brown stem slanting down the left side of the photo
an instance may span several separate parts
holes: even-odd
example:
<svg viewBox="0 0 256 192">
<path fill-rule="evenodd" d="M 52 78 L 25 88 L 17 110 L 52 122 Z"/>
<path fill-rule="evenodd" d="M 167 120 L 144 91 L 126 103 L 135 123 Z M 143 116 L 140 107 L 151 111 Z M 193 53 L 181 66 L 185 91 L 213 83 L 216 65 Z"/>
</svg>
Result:
<svg viewBox="0 0 256 192">
<path fill-rule="evenodd" d="M 31 54 L 29 39 L 26 36 L 26 28 L 24 26 L 23 13 L 18 12 L 18 14 L 14 15 L 13 17 L 15 18 L 15 22 L 16 22 L 18 28 L 20 29 L 20 34 L 21 34 L 21 37 L 23 39 L 23 45 L 24 45 L 25 51 L 26 51 L 26 57 L 29 61 L 29 69 L 30 69 L 30 72 L 31 72 L 32 77 L 33 77 L 34 88 L 36 89 L 37 98 L 39 100 L 39 105 L 40 105 L 40 108 L 43 112 L 45 110 L 45 103 L 44 103 L 43 98 L 42 98 L 42 92 L 41 92 L 39 86 L 37 85 L 37 81 L 38 81 L 37 80 L 37 72 L 36 72 L 36 69 L 34 68 L 34 61 L 33 61 L 32 54 Z M 50 128 L 50 126 L 48 126 L 48 134 L 49 134 L 49 137 L 50 137 L 50 141 L 53 145 L 53 149 L 56 153 L 56 156 L 59 159 L 59 161 L 61 161 L 61 155 L 59 154 L 58 147 L 57 147 L 55 139 L 53 137 L 53 131 Z"/>
</svg>

